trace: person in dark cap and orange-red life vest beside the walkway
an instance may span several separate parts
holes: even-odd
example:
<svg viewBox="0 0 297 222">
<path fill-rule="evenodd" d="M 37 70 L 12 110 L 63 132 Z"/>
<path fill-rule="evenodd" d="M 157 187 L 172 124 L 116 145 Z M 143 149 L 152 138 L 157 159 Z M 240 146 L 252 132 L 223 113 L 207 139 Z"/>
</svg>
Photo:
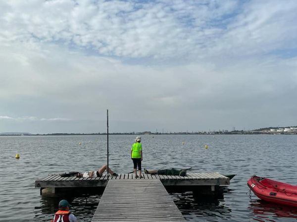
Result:
<svg viewBox="0 0 297 222">
<path fill-rule="evenodd" d="M 76 217 L 69 211 L 70 206 L 67 200 L 61 200 L 59 210 L 54 214 L 51 222 L 76 222 Z"/>
</svg>

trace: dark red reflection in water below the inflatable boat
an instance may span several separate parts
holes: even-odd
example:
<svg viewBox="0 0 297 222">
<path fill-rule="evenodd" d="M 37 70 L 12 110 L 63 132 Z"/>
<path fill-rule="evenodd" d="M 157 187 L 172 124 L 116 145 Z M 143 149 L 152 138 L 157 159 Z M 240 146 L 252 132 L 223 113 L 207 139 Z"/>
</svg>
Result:
<svg viewBox="0 0 297 222">
<path fill-rule="evenodd" d="M 272 221 L 273 219 L 288 218 L 286 221 L 297 219 L 297 209 L 290 206 L 268 203 L 262 200 L 251 200 L 248 209 L 254 214 L 255 220 Z"/>
</svg>

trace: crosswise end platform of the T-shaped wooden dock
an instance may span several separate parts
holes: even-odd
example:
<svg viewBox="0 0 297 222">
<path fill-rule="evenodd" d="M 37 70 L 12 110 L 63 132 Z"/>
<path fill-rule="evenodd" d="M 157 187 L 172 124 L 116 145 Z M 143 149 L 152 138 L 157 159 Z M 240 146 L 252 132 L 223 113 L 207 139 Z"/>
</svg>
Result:
<svg viewBox="0 0 297 222">
<path fill-rule="evenodd" d="M 109 181 L 151 181 L 160 180 L 164 186 L 187 186 L 187 185 L 229 185 L 229 178 L 219 173 L 187 173 L 187 176 L 166 176 L 143 174 L 144 178 L 135 179 L 134 174 L 119 174 L 117 177 L 109 176 Z M 49 175 L 35 181 L 35 187 L 59 188 L 59 187 L 105 187 L 107 175 L 93 178 L 60 177 L 60 175 Z"/>
</svg>

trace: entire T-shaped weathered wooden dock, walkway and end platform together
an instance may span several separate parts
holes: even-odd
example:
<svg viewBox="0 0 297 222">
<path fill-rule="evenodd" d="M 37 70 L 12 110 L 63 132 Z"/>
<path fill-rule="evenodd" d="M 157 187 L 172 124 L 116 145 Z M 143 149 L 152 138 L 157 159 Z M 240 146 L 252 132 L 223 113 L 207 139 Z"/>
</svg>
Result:
<svg viewBox="0 0 297 222">
<path fill-rule="evenodd" d="M 182 214 L 166 189 L 192 190 L 193 197 L 216 195 L 220 186 L 229 185 L 230 179 L 219 173 L 187 173 L 187 176 L 143 174 L 119 174 L 117 177 L 103 174 L 101 177 L 61 177 L 53 174 L 35 181 L 41 195 L 65 194 L 73 189 L 104 190 L 92 222 L 184 222 Z M 47 192 L 43 189 L 47 188 Z M 105 188 L 105 189 L 104 189 Z M 166 188 L 166 189 L 165 189 Z"/>
</svg>

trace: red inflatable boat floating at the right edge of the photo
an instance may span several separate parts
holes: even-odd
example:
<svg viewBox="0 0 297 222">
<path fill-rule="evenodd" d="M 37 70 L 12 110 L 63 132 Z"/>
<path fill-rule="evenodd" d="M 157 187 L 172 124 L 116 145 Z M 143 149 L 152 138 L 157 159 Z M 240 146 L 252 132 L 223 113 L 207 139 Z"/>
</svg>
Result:
<svg viewBox="0 0 297 222">
<path fill-rule="evenodd" d="M 297 185 L 285 184 L 255 175 L 247 181 L 247 185 L 262 200 L 297 207 Z"/>
</svg>

